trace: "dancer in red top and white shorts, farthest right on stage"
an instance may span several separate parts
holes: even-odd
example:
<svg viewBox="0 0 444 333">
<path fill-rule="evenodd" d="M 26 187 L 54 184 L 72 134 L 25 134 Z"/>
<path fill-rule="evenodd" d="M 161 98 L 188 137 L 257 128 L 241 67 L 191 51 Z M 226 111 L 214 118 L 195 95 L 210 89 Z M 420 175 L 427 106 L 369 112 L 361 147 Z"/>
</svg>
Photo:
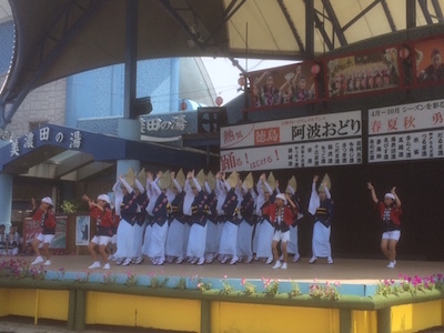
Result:
<svg viewBox="0 0 444 333">
<path fill-rule="evenodd" d="M 396 265 L 396 244 L 401 238 L 401 200 L 396 194 L 395 186 L 392 188 L 391 192 L 385 193 L 384 202 L 377 199 L 371 182 L 367 183 L 367 189 L 372 193 L 372 200 L 383 225 L 381 250 L 390 261 L 387 268 L 394 269 Z"/>
</svg>

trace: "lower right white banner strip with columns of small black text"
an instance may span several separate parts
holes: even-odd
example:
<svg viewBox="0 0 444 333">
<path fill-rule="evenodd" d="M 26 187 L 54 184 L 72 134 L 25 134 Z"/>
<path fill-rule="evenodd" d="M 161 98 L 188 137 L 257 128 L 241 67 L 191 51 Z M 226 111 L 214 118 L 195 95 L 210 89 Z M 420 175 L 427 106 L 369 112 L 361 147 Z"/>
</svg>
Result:
<svg viewBox="0 0 444 333">
<path fill-rule="evenodd" d="M 444 130 L 369 138 L 369 163 L 444 158 Z"/>
</svg>

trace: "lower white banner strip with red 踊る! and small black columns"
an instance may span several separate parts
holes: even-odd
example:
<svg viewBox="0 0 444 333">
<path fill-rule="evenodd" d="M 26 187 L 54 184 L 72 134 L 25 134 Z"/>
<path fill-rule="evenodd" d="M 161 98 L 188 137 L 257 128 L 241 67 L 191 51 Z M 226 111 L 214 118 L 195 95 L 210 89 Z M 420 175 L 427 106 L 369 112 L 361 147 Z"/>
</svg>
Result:
<svg viewBox="0 0 444 333">
<path fill-rule="evenodd" d="M 223 171 L 362 164 L 362 139 L 225 150 L 220 160 Z"/>
</svg>

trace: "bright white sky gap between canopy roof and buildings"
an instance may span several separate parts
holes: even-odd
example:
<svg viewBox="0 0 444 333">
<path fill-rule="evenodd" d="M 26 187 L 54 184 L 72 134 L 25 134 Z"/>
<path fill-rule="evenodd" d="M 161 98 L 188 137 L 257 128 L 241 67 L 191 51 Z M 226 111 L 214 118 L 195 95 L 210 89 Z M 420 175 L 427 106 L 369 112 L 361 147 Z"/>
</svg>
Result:
<svg viewBox="0 0 444 333">
<path fill-rule="evenodd" d="M 201 58 L 213 82 L 215 92 L 222 97 L 223 104 L 241 94 L 238 79 L 241 71 L 226 58 Z M 238 59 L 248 72 L 295 63 L 295 61 Z"/>
</svg>

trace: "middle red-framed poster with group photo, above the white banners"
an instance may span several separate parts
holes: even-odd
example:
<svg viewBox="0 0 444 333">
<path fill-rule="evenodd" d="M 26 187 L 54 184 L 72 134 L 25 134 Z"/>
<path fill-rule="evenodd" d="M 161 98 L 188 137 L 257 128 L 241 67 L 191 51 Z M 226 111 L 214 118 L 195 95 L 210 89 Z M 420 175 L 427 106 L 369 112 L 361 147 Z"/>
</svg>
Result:
<svg viewBox="0 0 444 333">
<path fill-rule="evenodd" d="M 330 59 L 326 62 L 329 97 L 366 93 L 400 85 L 397 48 Z"/>
</svg>

